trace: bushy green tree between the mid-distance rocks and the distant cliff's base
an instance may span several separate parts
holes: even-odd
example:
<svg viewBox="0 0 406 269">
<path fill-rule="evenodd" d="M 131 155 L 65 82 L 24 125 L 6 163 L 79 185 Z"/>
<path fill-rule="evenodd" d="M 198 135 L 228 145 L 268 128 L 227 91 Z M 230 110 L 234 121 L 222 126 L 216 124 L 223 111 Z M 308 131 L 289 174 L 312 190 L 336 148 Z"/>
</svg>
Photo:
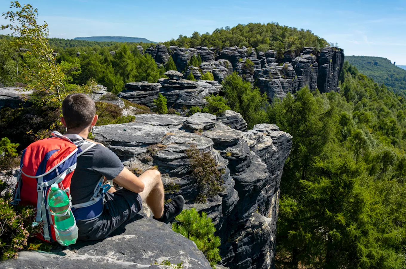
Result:
<svg viewBox="0 0 406 269">
<path fill-rule="evenodd" d="M 255 124 L 268 121 L 265 108 L 268 98 L 261 94 L 258 88 L 253 88 L 251 83 L 242 80 L 237 73 L 233 72 L 222 82 L 227 104 L 233 111 L 241 113 L 248 124 L 248 129 Z"/>
</svg>

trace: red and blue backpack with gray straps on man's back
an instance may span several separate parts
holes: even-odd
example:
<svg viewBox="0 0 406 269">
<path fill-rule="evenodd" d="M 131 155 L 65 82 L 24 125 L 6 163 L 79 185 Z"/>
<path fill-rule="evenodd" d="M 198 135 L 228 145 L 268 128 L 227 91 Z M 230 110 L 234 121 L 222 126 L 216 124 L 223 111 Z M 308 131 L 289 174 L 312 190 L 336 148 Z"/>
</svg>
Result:
<svg viewBox="0 0 406 269">
<path fill-rule="evenodd" d="M 75 140 L 69 139 L 74 138 Z M 73 137 L 72 137 L 73 136 Z M 57 183 L 71 200 L 70 187 L 78 156 L 96 145 L 78 135 L 62 135 L 52 132 L 52 137 L 30 144 L 22 153 L 20 169 L 17 171 L 17 185 L 14 203 L 36 206 L 37 212 L 32 226 L 40 226 L 39 239 L 56 241 L 54 216 L 48 206 L 51 185 Z M 102 214 L 104 192 L 103 177 L 95 187 L 95 194 L 89 202 L 71 206 L 75 219 L 92 219 Z"/>
</svg>

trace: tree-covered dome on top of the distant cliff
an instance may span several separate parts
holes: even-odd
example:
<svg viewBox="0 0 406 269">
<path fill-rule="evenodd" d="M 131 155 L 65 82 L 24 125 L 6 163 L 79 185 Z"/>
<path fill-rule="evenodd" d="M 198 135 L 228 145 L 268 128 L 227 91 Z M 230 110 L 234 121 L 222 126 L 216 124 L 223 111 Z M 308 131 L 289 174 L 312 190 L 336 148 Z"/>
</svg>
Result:
<svg viewBox="0 0 406 269">
<path fill-rule="evenodd" d="M 259 51 L 272 49 L 282 52 L 291 49 L 299 52 L 303 47 L 319 49 L 328 43 L 310 30 L 299 30 L 294 27 L 281 26 L 278 23 L 249 23 L 238 24 L 233 28 L 216 29 L 212 34 L 200 35 L 195 32 L 190 37 L 179 35 L 178 39 L 164 42 L 164 45 L 185 48 L 206 46 L 220 49 L 232 46 L 251 46 Z"/>
</svg>

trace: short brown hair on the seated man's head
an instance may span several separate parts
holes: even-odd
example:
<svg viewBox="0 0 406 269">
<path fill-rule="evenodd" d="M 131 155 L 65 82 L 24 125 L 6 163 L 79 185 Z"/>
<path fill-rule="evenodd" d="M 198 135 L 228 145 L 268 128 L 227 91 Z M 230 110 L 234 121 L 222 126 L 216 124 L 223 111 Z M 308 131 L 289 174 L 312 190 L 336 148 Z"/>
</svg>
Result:
<svg viewBox="0 0 406 269">
<path fill-rule="evenodd" d="M 62 114 L 67 128 L 85 128 L 96 115 L 95 102 L 84 93 L 69 94 L 62 102 Z"/>
</svg>

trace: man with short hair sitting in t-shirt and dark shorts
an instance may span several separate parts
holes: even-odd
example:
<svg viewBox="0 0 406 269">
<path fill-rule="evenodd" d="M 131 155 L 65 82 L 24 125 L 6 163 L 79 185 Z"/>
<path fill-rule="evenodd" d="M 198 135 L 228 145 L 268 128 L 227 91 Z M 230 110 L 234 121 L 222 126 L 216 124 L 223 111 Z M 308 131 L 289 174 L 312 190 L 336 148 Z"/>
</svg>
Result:
<svg viewBox="0 0 406 269">
<path fill-rule="evenodd" d="M 87 139 L 98 119 L 95 103 L 83 93 L 68 95 L 63 100 L 62 113 L 61 121 L 67 129 L 65 135 L 73 141 Z M 104 194 L 105 203 L 100 216 L 76 220 L 78 239 L 106 238 L 137 215 L 143 202 L 151 208 L 153 218 L 164 223 L 172 221 L 183 209 L 185 200 L 181 195 L 164 205 L 164 186 L 159 171 L 148 170 L 137 177 L 123 166 L 116 154 L 99 143 L 78 157 L 71 180 L 72 204 L 91 200 L 102 176 L 123 189 L 116 191 L 111 187 Z"/>
</svg>

